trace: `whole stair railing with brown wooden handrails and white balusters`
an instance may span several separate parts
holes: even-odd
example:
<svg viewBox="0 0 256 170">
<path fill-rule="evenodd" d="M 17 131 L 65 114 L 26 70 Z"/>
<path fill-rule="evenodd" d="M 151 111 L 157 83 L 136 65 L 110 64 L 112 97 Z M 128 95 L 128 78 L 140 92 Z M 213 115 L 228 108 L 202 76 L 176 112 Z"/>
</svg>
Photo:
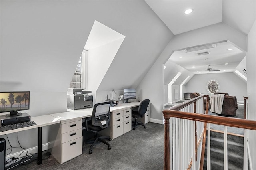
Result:
<svg viewBox="0 0 256 170">
<path fill-rule="evenodd" d="M 191 103 L 198 103 L 198 105 L 204 104 L 204 97 L 207 98 L 206 104 L 206 113 L 208 111 L 208 96 L 200 96 L 190 101 L 181 103 L 180 105 L 176 105 L 171 107 L 170 109 L 163 110 L 164 114 L 164 169 L 165 170 L 176 170 L 176 169 L 190 169 L 192 167 L 193 170 L 196 169 L 196 146 L 195 146 L 195 136 L 196 136 L 196 122 L 204 123 L 203 128 L 203 140 L 202 140 L 202 152 L 204 152 L 204 144 L 206 138 L 206 123 L 208 123 L 208 142 L 210 142 L 210 123 L 217 124 L 217 125 L 224 125 L 224 170 L 227 170 L 227 140 L 225 136 L 227 136 L 227 126 L 229 127 L 237 127 L 237 128 L 244 128 L 244 134 L 247 133 L 247 129 L 256 130 L 256 121 L 247 120 L 247 119 L 239 119 L 233 117 L 220 117 L 217 115 L 207 115 L 200 113 L 200 109 L 194 112 L 194 107 L 192 108 Z M 200 100 L 201 99 L 201 100 Z M 194 105 L 193 105 L 194 106 Z M 204 109 L 203 109 L 204 110 Z M 172 118 L 172 119 L 170 119 Z M 175 119 L 176 118 L 176 119 Z M 188 122 L 186 122 L 188 121 Z M 191 122 L 192 121 L 192 122 Z M 170 124 L 171 122 L 171 124 Z M 180 123 L 181 124 L 178 124 Z M 184 124 L 184 122 L 186 122 Z M 178 124 L 178 126 L 176 126 Z M 193 127 L 193 128 L 192 128 Z M 181 129 L 183 130 L 183 134 L 180 133 Z M 192 129 L 192 130 L 191 130 Z M 177 133 L 178 132 L 178 133 Z M 192 134 L 192 135 L 191 135 Z M 187 137 L 185 137 L 187 135 Z M 185 139 L 186 138 L 186 139 Z M 244 136 L 247 139 L 246 136 Z M 181 144 L 178 142 L 180 141 Z M 178 143 L 177 143 L 178 142 Z M 186 146 L 186 143 L 188 146 Z M 209 144 L 209 143 L 208 143 Z M 225 146 L 226 145 L 226 146 Z M 170 147 L 171 146 L 171 147 Z M 247 140 L 244 142 L 244 150 L 247 150 Z M 178 150 L 177 150 L 178 148 Z M 192 150 L 191 150 L 192 148 Z M 192 152 L 192 156 L 191 156 Z M 210 149 L 208 149 L 210 152 Z M 226 152 L 226 153 L 225 153 Z M 247 169 L 247 152 L 244 152 L 244 170 Z M 171 157 L 172 156 L 172 157 Z M 184 157 L 183 157 L 184 156 Z M 201 154 L 200 159 L 200 169 L 203 168 L 203 159 Z M 210 159 L 210 153 L 207 156 Z M 190 159 L 190 163 L 186 161 L 187 158 Z M 246 160 L 245 160 L 246 159 Z M 185 161 L 184 161 L 185 160 Z M 192 164 L 192 165 L 191 165 Z M 207 160 L 207 169 L 210 169 L 210 160 Z M 187 168 L 185 168 L 187 166 Z"/>
</svg>

